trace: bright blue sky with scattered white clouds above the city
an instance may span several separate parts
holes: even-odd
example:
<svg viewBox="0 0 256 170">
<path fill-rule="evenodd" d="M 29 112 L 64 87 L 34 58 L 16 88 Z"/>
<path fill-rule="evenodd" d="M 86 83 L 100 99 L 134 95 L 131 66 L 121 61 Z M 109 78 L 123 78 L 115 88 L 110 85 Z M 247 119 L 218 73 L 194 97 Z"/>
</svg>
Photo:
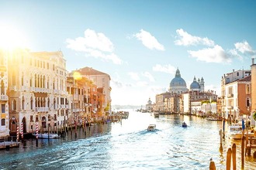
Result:
<svg viewBox="0 0 256 170">
<path fill-rule="evenodd" d="M 255 1 L 0 1 L 1 27 L 31 51 L 61 49 L 67 71 L 111 76 L 112 104 L 145 105 L 168 90 L 177 68 L 220 93 L 256 54 Z M 2 34 L 2 36 L 5 34 Z M 0 43 L 1 44 L 1 43 Z"/>
</svg>

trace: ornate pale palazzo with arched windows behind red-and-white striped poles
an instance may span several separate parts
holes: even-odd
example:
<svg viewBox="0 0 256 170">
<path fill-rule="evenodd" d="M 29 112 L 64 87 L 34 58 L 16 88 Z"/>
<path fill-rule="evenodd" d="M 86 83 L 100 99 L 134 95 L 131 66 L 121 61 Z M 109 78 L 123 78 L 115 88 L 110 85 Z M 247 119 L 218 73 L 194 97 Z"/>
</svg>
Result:
<svg viewBox="0 0 256 170">
<path fill-rule="evenodd" d="M 57 131 L 67 125 L 66 61 L 61 51 L 31 53 L 17 49 L 9 56 L 10 132 Z M 19 132 L 21 132 L 19 128 Z"/>
</svg>

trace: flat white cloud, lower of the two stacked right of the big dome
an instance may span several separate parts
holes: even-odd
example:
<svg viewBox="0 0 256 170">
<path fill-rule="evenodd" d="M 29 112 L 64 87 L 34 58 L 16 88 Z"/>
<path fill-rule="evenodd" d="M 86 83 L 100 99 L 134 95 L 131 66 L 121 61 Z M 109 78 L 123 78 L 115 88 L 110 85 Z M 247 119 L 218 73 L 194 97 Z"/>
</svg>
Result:
<svg viewBox="0 0 256 170">
<path fill-rule="evenodd" d="M 196 58 L 199 61 L 205 61 L 206 63 L 230 63 L 230 56 L 225 53 L 223 48 L 219 45 L 213 48 L 200 49 L 198 51 L 188 51 L 190 56 Z"/>
</svg>

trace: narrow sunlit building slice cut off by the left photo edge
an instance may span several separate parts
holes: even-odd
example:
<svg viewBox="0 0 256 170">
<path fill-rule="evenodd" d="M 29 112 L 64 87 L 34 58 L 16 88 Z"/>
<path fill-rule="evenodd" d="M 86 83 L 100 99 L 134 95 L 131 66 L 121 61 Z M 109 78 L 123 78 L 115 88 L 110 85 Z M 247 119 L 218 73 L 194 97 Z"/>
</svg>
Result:
<svg viewBox="0 0 256 170">
<path fill-rule="evenodd" d="M 0 49 L 0 137 L 9 135 L 8 53 Z"/>
</svg>

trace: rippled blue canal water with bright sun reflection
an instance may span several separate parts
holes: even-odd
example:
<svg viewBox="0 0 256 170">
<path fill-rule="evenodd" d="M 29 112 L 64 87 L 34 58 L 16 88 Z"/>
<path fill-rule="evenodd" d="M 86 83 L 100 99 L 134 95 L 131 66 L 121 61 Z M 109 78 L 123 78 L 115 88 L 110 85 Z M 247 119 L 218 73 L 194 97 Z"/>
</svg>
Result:
<svg viewBox="0 0 256 170">
<path fill-rule="evenodd" d="M 227 148 L 237 145 L 240 169 L 240 141 L 223 142 L 221 121 L 207 121 L 186 115 L 160 115 L 130 111 L 119 123 L 96 124 L 78 129 L 60 139 L 24 141 L 19 148 L 0 151 L 0 169 L 209 169 L 212 158 L 217 169 L 226 169 Z M 182 128 L 182 122 L 188 124 Z M 156 124 L 156 131 L 147 131 Z M 252 157 L 245 169 L 254 169 Z"/>
</svg>

